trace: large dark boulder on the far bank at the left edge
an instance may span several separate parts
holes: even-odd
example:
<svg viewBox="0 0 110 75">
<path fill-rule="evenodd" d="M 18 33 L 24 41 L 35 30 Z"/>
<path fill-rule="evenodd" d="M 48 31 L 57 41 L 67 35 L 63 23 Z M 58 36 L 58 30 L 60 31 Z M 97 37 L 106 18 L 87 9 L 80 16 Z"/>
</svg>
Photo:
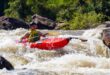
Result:
<svg viewBox="0 0 110 75">
<path fill-rule="evenodd" d="M 10 18 L 5 16 L 0 17 L 0 29 L 13 30 L 17 28 L 28 29 L 29 25 L 24 21 L 15 18 Z"/>
</svg>

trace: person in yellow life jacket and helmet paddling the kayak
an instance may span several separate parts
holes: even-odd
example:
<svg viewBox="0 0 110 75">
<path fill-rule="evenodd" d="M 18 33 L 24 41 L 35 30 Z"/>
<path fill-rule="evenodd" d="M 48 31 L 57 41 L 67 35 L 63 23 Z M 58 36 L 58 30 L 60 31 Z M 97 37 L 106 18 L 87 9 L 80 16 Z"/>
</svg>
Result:
<svg viewBox="0 0 110 75">
<path fill-rule="evenodd" d="M 35 23 L 30 24 L 30 32 L 26 33 L 20 40 L 20 42 L 36 42 L 45 37 L 48 33 L 42 34 L 37 30 L 37 25 Z"/>
</svg>

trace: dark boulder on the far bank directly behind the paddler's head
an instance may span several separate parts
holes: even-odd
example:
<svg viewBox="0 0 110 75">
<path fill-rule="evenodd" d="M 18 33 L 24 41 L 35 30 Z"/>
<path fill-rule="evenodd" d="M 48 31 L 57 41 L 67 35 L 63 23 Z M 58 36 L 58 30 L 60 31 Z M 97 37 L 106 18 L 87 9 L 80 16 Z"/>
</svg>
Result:
<svg viewBox="0 0 110 75">
<path fill-rule="evenodd" d="M 31 23 L 35 23 L 38 26 L 38 29 L 54 29 L 57 25 L 53 20 L 37 14 L 32 16 Z"/>
</svg>

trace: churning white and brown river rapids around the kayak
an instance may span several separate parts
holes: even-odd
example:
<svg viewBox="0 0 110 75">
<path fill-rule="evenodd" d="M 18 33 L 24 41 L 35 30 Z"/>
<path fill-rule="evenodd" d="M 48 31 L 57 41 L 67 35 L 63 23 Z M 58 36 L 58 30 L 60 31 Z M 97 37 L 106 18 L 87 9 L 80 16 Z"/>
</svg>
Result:
<svg viewBox="0 0 110 75">
<path fill-rule="evenodd" d="M 57 51 L 31 49 L 17 43 L 28 30 L 0 30 L 0 55 L 12 63 L 15 70 L 0 70 L 0 75 L 110 75 L 110 52 L 102 43 L 101 29 L 78 31 L 49 31 L 59 33 L 50 37 L 80 37 L 72 39 Z"/>
</svg>

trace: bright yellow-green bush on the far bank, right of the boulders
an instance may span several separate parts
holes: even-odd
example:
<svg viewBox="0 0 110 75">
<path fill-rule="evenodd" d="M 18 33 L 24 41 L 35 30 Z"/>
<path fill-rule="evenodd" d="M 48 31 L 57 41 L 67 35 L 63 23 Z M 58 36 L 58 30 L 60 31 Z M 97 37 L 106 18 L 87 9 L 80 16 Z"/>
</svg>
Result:
<svg viewBox="0 0 110 75">
<path fill-rule="evenodd" d="M 69 21 L 69 28 L 72 29 L 87 29 L 96 27 L 103 20 L 102 14 L 97 14 L 94 11 L 81 14 L 75 13 L 73 19 Z"/>
</svg>

